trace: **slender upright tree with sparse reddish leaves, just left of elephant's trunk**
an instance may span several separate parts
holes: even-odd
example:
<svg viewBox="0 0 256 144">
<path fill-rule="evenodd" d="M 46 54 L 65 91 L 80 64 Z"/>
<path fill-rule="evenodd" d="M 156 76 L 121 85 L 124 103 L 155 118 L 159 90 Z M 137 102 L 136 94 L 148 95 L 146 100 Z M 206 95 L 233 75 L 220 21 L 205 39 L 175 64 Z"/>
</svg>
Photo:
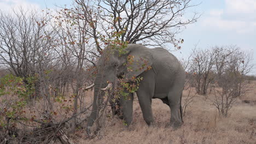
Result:
<svg viewBox="0 0 256 144">
<path fill-rule="evenodd" d="M 92 44 L 90 43 L 90 35 L 88 29 L 90 27 L 87 21 L 75 19 L 79 15 L 73 14 L 72 17 L 66 13 L 65 9 L 59 11 L 59 15 L 55 15 L 55 23 L 53 24 L 54 32 L 59 35 L 54 47 L 58 53 L 61 62 L 61 69 L 67 71 L 71 77 L 68 83 L 71 84 L 74 103 L 73 103 L 73 122 L 72 130 L 77 127 L 78 108 L 80 111 L 88 109 L 83 107 L 84 101 L 84 85 L 91 84 L 93 79 L 91 72 L 86 71 L 91 66 L 95 66 L 97 55 L 94 54 Z"/>
</svg>

